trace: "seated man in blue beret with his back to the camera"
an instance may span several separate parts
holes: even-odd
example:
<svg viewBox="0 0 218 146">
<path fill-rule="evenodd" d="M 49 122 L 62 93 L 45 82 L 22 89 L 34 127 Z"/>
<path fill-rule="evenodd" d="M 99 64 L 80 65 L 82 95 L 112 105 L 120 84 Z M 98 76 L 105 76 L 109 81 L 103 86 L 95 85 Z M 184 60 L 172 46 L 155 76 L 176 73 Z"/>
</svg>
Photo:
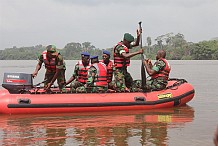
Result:
<svg viewBox="0 0 218 146">
<path fill-rule="evenodd" d="M 91 57 L 92 65 L 88 70 L 88 81 L 86 88 L 88 92 L 106 92 L 107 91 L 107 67 L 104 63 L 98 61 L 98 56 Z"/>
</svg>

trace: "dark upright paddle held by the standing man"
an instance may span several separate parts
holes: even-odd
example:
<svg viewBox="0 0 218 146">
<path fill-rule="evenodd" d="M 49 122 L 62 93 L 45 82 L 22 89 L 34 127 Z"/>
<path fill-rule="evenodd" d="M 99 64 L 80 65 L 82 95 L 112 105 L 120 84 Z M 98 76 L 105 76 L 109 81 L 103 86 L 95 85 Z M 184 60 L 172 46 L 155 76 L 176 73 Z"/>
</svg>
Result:
<svg viewBox="0 0 218 146">
<path fill-rule="evenodd" d="M 140 33 L 140 48 L 142 49 L 142 22 L 139 22 L 139 31 Z M 145 85 L 146 85 L 146 73 L 145 73 L 145 68 L 144 68 L 144 60 L 145 57 L 143 54 L 141 54 L 141 60 L 142 60 L 142 65 L 141 65 L 141 88 L 143 91 L 145 91 Z"/>
</svg>

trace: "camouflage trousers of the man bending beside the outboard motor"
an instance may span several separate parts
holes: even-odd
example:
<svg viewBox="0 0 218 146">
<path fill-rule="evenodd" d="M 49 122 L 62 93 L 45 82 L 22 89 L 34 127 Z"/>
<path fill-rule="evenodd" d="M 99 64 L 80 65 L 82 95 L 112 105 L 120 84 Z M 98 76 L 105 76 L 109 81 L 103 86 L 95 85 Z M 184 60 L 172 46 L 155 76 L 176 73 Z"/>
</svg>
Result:
<svg viewBox="0 0 218 146">
<path fill-rule="evenodd" d="M 51 82 L 51 80 L 53 79 L 55 75 L 55 72 L 46 72 L 45 73 L 45 78 L 44 80 L 46 81 L 44 83 L 44 86 L 47 86 L 48 83 Z M 58 74 L 58 77 L 57 77 L 57 83 L 58 83 L 58 87 L 61 91 L 66 91 L 65 89 L 65 84 L 66 84 L 66 79 L 65 79 L 65 70 L 61 70 Z"/>
</svg>

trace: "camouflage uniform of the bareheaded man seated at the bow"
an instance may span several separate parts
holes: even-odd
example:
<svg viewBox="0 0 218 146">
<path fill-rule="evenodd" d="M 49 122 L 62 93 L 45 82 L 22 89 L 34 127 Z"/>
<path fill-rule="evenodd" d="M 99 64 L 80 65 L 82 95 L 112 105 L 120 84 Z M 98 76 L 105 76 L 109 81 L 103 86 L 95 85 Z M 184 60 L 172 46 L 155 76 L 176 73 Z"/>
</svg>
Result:
<svg viewBox="0 0 218 146">
<path fill-rule="evenodd" d="M 152 70 L 155 70 L 157 73 L 165 67 L 165 62 L 158 60 L 152 67 Z M 162 90 L 167 86 L 168 81 L 163 77 L 158 77 L 155 79 L 147 80 L 146 89 L 148 90 Z"/>
</svg>

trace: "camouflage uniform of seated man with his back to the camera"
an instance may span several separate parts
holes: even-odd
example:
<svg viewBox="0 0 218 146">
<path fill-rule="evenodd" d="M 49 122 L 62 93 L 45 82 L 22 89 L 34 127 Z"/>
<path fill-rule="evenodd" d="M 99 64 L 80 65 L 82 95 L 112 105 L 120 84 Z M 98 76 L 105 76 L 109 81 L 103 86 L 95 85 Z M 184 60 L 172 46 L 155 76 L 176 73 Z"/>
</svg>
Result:
<svg viewBox="0 0 218 146">
<path fill-rule="evenodd" d="M 94 74 L 94 78 L 93 78 L 92 74 Z M 91 93 L 107 92 L 107 87 L 94 85 L 95 78 L 97 78 L 97 69 L 92 66 L 88 70 L 87 88 L 85 88 L 86 92 L 91 92 Z M 83 88 L 83 91 L 84 91 L 84 88 Z"/>
</svg>

